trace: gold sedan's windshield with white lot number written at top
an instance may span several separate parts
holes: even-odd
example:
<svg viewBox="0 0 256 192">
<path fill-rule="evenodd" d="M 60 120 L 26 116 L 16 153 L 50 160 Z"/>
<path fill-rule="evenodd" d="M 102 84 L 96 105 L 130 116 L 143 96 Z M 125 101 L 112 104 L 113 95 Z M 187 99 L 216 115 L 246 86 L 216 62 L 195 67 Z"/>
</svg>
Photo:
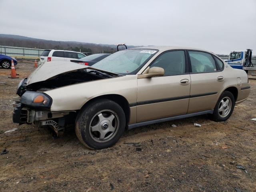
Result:
<svg viewBox="0 0 256 192">
<path fill-rule="evenodd" d="M 104 58 L 92 67 L 118 74 L 136 74 L 156 52 L 158 50 L 122 50 Z"/>
</svg>

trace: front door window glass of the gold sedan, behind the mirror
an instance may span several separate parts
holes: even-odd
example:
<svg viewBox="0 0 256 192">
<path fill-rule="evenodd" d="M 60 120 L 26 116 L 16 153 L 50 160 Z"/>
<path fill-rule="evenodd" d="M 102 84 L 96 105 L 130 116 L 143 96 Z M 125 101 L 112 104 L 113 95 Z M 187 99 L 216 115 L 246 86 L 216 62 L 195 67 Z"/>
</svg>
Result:
<svg viewBox="0 0 256 192">
<path fill-rule="evenodd" d="M 150 67 L 162 67 L 164 75 L 184 74 L 186 68 L 184 51 L 170 51 L 160 55 Z"/>
</svg>

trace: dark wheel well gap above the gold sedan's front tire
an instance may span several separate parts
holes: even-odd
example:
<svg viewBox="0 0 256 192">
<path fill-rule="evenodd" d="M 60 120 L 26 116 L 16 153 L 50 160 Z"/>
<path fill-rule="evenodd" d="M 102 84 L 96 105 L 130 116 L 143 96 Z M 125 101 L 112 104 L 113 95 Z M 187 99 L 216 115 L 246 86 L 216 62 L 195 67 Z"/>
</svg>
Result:
<svg viewBox="0 0 256 192">
<path fill-rule="evenodd" d="M 125 114 L 125 118 L 126 118 L 126 126 L 128 125 L 128 123 L 130 121 L 130 105 L 129 105 L 128 101 L 126 100 L 126 98 L 124 98 L 123 96 L 118 95 L 118 94 L 102 95 L 102 96 L 92 98 L 91 100 L 86 102 L 86 104 L 84 104 L 84 106 L 88 105 L 90 102 L 93 102 L 97 99 L 109 99 L 109 100 L 116 102 L 118 105 L 120 105 L 122 107 L 122 109 L 124 110 L 124 114 Z"/>
</svg>

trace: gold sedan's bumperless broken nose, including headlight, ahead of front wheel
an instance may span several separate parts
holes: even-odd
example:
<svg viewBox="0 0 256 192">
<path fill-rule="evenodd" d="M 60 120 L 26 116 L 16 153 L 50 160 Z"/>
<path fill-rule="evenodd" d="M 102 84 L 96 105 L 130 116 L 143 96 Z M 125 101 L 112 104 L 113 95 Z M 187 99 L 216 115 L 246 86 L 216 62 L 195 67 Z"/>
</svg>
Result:
<svg viewBox="0 0 256 192">
<path fill-rule="evenodd" d="M 25 91 L 21 97 L 13 98 L 13 122 L 32 124 L 37 127 L 50 126 L 58 135 L 67 124 L 73 124 L 76 111 L 51 112 L 52 99 L 42 92 Z"/>
</svg>

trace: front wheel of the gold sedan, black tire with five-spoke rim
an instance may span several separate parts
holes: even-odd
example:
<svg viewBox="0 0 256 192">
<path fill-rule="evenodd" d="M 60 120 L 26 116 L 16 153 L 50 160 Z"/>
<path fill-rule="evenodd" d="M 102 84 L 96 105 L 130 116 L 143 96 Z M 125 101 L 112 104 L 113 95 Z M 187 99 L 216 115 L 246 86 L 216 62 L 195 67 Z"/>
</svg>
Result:
<svg viewBox="0 0 256 192">
<path fill-rule="evenodd" d="M 116 102 L 99 99 L 82 108 L 76 118 L 76 136 L 84 146 L 98 150 L 113 146 L 126 125 L 124 110 Z"/>
</svg>

